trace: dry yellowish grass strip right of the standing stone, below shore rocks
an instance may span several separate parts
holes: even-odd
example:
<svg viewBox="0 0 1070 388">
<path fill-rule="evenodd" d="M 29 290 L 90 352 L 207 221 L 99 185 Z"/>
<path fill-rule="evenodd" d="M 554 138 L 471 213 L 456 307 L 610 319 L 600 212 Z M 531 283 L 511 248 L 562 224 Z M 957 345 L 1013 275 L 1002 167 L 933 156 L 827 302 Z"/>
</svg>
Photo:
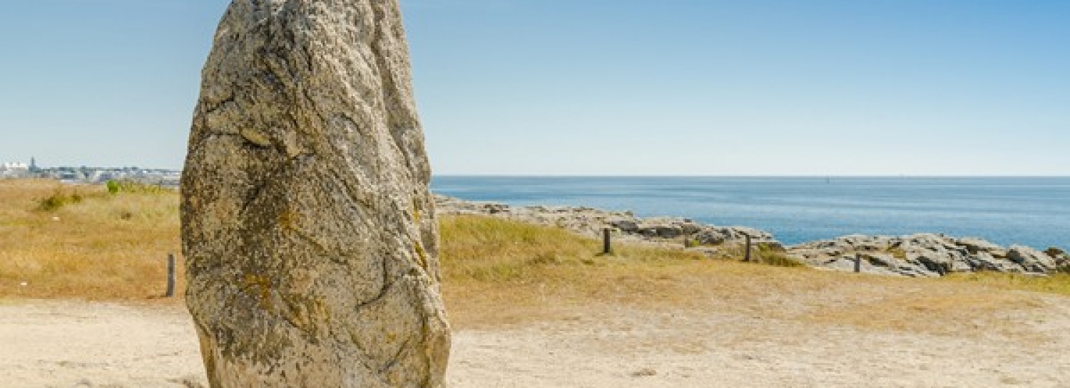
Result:
<svg viewBox="0 0 1070 388">
<path fill-rule="evenodd" d="M 638 247 L 600 257 L 597 242 L 560 229 L 472 216 L 442 220 L 442 236 L 444 292 L 461 327 L 626 306 L 961 336 L 1006 332 L 1014 314 L 1043 306 L 1036 294 L 1005 291 L 1033 290 L 1026 278 L 1004 285 L 889 278 Z"/>
</svg>

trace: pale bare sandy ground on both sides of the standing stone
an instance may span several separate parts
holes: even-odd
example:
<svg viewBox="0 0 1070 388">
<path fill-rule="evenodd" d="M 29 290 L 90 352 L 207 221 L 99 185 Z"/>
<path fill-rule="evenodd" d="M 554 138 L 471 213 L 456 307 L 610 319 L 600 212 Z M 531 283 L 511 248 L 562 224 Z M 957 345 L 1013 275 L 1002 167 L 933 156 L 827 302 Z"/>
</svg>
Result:
<svg viewBox="0 0 1070 388">
<path fill-rule="evenodd" d="M 455 333 L 450 388 L 1070 387 L 1070 299 L 1007 330 L 926 333 L 600 307 Z M 0 387 L 198 387 L 178 307 L 0 302 Z"/>
</svg>

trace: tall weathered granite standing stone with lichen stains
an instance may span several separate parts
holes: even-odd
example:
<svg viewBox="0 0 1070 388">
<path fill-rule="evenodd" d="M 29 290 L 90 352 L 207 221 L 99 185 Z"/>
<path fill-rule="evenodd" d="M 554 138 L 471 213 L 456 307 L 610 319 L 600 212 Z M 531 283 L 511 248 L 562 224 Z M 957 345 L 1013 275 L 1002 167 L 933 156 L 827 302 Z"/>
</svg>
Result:
<svg viewBox="0 0 1070 388">
<path fill-rule="evenodd" d="M 234 0 L 202 76 L 182 239 L 212 387 L 441 387 L 398 0 Z"/>
</svg>

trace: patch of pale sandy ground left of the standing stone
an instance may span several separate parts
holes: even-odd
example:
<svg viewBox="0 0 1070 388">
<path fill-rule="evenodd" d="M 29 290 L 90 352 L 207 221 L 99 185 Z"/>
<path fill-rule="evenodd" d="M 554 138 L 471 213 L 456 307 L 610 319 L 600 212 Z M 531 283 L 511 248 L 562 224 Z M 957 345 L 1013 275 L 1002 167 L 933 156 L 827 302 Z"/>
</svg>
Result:
<svg viewBox="0 0 1070 388">
<path fill-rule="evenodd" d="M 203 374 L 179 308 L 74 301 L 0 305 L 0 387 L 182 387 Z"/>
</svg>

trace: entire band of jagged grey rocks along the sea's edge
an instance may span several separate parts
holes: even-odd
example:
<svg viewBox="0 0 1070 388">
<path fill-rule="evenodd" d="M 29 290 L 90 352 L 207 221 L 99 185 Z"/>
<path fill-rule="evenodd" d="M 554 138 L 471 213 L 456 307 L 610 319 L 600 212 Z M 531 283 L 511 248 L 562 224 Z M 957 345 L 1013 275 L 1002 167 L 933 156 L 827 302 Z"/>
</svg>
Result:
<svg viewBox="0 0 1070 388">
<path fill-rule="evenodd" d="M 1003 247 L 976 237 L 943 234 L 908 236 L 849 235 L 832 239 L 784 246 L 766 231 L 745 227 L 719 227 L 683 217 L 640 218 L 631 212 L 612 212 L 585 206 L 509 206 L 434 196 L 444 215 L 482 215 L 554 226 L 597 237 L 612 228 L 616 239 L 629 243 L 674 245 L 712 257 L 738 254 L 749 236 L 759 247 L 755 254 L 782 254 L 806 265 L 852 271 L 856 261 L 867 274 L 939 277 L 954 273 L 999 271 L 1046 276 L 1070 269 L 1070 254 L 1059 248 L 1038 250 L 1012 245 Z"/>
</svg>

